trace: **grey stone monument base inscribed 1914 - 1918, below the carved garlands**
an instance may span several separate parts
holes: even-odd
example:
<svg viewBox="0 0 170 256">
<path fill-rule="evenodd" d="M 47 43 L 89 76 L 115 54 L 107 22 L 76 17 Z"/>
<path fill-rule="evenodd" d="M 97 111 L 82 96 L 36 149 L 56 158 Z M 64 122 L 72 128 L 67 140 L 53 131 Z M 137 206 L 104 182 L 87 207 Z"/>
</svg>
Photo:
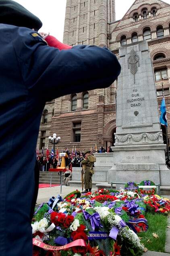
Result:
<svg viewBox="0 0 170 256">
<path fill-rule="evenodd" d="M 113 149 L 114 164 L 108 171 L 108 183 L 151 180 L 162 186 L 170 185 L 170 170 L 165 164 L 166 145 L 129 145 Z M 116 189 L 120 187 L 124 185 L 116 185 Z"/>
</svg>

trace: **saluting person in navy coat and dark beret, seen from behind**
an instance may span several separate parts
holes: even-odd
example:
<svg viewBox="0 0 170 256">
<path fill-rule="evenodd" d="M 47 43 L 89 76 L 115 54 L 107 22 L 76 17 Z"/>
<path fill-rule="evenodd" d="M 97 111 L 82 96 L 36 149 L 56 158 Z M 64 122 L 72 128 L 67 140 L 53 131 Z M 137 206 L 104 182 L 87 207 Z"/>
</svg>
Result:
<svg viewBox="0 0 170 256">
<path fill-rule="evenodd" d="M 39 182 L 35 149 L 46 102 L 109 87 L 120 73 L 116 56 L 106 47 L 72 47 L 50 35 L 43 38 L 37 32 L 41 26 L 17 2 L 0 0 L 2 256 L 33 255 L 31 220 Z"/>
</svg>

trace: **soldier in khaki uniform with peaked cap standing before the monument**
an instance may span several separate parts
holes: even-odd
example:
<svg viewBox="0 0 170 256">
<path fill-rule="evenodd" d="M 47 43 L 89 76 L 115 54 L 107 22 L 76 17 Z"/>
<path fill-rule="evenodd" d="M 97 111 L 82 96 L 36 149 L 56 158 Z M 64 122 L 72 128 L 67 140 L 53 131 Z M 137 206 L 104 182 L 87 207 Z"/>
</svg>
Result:
<svg viewBox="0 0 170 256">
<path fill-rule="evenodd" d="M 85 158 L 83 159 L 83 161 L 81 161 L 81 164 L 83 166 L 83 181 L 85 184 L 85 191 L 83 191 L 83 193 L 87 193 L 87 192 L 91 192 L 91 188 L 92 188 L 92 175 L 90 172 L 90 168 L 91 168 L 91 162 L 90 162 L 90 153 L 91 151 L 86 149 L 84 151 L 85 154 Z"/>
</svg>

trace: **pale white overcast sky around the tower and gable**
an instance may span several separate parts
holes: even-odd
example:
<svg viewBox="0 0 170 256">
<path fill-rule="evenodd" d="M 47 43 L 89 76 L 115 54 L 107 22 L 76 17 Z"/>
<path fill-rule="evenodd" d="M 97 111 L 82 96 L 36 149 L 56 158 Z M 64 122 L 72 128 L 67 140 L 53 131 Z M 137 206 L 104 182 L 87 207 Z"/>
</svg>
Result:
<svg viewBox="0 0 170 256">
<path fill-rule="evenodd" d="M 66 0 L 15 0 L 36 15 L 43 23 L 39 32 L 55 36 L 60 42 L 63 39 Z M 135 0 L 116 0 L 116 20 L 121 19 Z M 170 0 L 164 1 L 170 4 Z"/>
</svg>

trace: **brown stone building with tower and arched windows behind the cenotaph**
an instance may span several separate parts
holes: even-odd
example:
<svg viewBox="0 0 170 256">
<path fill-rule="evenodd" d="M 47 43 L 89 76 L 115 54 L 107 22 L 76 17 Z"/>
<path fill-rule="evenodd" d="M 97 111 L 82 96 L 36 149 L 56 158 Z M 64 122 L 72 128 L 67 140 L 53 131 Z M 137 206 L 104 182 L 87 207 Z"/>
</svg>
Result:
<svg viewBox="0 0 170 256">
<path fill-rule="evenodd" d="M 115 21 L 118 0 L 67 0 L 63 42 L 108 47 L 119 59 L 119 48 L 147 41 L 153 63 L 158 107 L 164 87 L 170 137 L 170 5 L 161 0 L 136 0 Z M 114 67 L 113 67 L 114 69 Z M 91 70 L 93 72 L 93 70 Z M 84 74 L 85 78 L 86 74 Z M 82 77 L 82 79 L 84 79 Z M 70 86 L 72 86 L 70 84 Z M 50 88 L 50 84 L 49 84 Z M 58 88 L 60 90 L 60 88 Z M 61 137 L 59 152 L 114 145 L 117 81 L 109 88 L 68 94 L 46 103 L 37 148 L 49 150 L 48 137 Z"/>
</svg>

